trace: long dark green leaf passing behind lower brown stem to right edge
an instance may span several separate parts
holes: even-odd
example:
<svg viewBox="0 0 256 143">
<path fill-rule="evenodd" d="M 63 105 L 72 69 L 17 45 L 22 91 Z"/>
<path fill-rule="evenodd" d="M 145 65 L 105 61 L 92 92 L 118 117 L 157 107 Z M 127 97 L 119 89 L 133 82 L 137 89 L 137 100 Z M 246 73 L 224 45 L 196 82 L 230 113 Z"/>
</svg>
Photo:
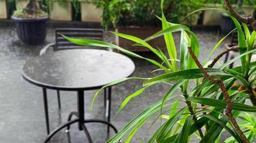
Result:
<svg viewBox="0 0 256 143">
<path fill-rule="evenodd" d="M 188 101 L 196 102 L 200 104 L 206 104 L 211 107 L 219 107 L 225 109 L 227 104 L 224 100 L 219 99 L 209 99 L 209 98 L 201 98 L 201 97 L 188 97 Z M 246 104 L 240 104 L 236 102 L 232 102 L 232 109 L 242 111 L 242 112 L 256 112 L 256 107 L 249 106 Z"/>
</svg>

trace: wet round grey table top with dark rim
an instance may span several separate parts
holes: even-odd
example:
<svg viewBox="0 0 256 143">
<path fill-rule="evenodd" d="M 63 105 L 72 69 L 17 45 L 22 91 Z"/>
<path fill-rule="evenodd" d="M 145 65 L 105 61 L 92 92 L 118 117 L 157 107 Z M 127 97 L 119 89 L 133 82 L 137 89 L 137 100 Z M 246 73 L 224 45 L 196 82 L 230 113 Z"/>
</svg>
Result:
<svg viewBox="0 0 256 143">
<path fill-rule="evenodd" d="M 30 59 L 22 68 L 22 77 L 47 89 L 77 91 L 99 89 L 129 77 L 134 69 L 134 62 L 122 54 L 100 49 L 71 49 Z"/>
</svg>

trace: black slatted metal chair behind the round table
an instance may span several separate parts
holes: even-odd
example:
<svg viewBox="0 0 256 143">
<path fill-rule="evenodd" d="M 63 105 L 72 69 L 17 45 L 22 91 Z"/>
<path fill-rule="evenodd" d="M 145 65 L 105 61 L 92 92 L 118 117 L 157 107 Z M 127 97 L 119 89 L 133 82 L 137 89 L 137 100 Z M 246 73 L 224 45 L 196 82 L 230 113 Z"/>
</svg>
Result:
<svg viewBox="0 0 256 143">
<path fill-rule="evenodd" d="M 53 51 L 65 50 L 65 49 L 91 49 L 92 46 L 81 46 L 78 44 L 73 44 L 67 41 L 61 35 L 68 36 L 70 38 L 84 38 L 84 39 L 96 39 L 103 40 L 103 29 L 56 29 L 55 30 L 55 43 L 47 44 L 40 51 L 40 56 L 46 54 L 47 50 L 53 48 Z M 93 49 L 102 49 L 94 46 Z M 106 97 L 108 95 L 108 97 Z M 58 107 L 61 109 L 60 104 L 60 91 L 57 90 L 58 96 Z M 108 122 L 110 122 L 111 113 L 111 87 L 104 89 L 104 108 L 105 116 Z M 109 132 L 109 127 L 108 127 Z"/>
</svg>

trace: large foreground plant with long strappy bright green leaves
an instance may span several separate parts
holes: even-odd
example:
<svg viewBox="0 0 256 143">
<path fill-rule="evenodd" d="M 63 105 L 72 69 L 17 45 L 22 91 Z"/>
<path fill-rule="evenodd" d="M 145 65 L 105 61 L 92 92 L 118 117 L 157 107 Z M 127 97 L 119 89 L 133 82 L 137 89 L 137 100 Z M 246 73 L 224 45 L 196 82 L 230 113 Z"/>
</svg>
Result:
<svg viewBox="0 0 256 143">
<path fill-rule="evenodd" d="M 224 36 L 212 49 L 211 53 L 201 64 L 197 57 L 199 55 L 200 46 L 196 34 L 193 33 L 187 26 L 182 24 L 173 24 L 167 21 L 163 12 L 163 1 L 161 1 L 161 16 L 158 18 L 162 23 L 163 30 L 148 37 L 147 39 L 139 39 L 135 36 L 112 32 L 130 41 L 134 44 L 142 46 L 152 51 L 161 62 L 154 59 L 145 58 L 139 54 L 122 49 L 122 47 L 110 44 L 105 41 L 97 41 L 92 39 L 71 39 L 64 36 L 65 39 L 75 44 L 85 46 L 101 46 L 113 49 L 118 49 L 124 54 L 134 56 L 140 59 L 145 59 L 156 66 L 157 71 L 163 71 L 156 77 L 138 78 L 130 77 L 120 79 L 102 89 L 125 82 L 129 79 L 144 80 L 142 88 L 137 92 L 129 95 L 119 108 L 119 112 L 125 108 L 132 98 L 139 96 L 146 89 L 149 89 L 154 84 L 170 85 L 168 91 L 163 94 L 162 99 L 144 109 L 140 114 L 137 114 L 127 125 L 125 125 L 114 137 L 108 142 L 116 143 L 128 134 L 124 142 L 130 142 L 134 134 L 152 117 L 157 114 L 157 119 L 162 121 L 162 125 L 157 127 L 155 133 L 152 134 L 148 142 L 180 142 L 185 143 L 190 141 L 192 134 L 195 134 L 201 143 L 219 142 L 221 133 L 226 131 L 230 134 L 227 141 L 232 142 L 249 142 L 252 137 L 255 137 L 255 122 L 251 122 L 251 116 L 247 112 L 256 112 L 256 96 L 255 96 L 255 71 L 256 61 L 251 61 L 252 54 L 255 54 L 256 49 L 256 31 L 250 33 L 246 24 L 239 24 L 239 21 L 232 16 L 228 11 L 234 24 L 237 27 L 239 45 L 230 49 L 225 49 L 213 60 L 211 55 L 216 51 L 221 42 L 227 37 Z M 176 45 L 173 39 L 173 33 L 180 33 L 180 56 L 176 52 Z M 165 44 L 168 51 L 166 56 L 163 51 L 150 46 L 147 41 L 164 36 Z M 221 56 L 227 52 L 239 49 L 239 56 L 221 66 L 215 66 Z M 240 60 L 241 66 L 236 66 L 232 69 L 227 69 L 229 64 Z M 239 82 L 238 82 L 239 81 Z M 241 83 L 241 84 L 238 84 Z M 101 89 L 96 92 L 93 102 L 96 100 Z M 177 100 L 170 103 L 170 99 L 174 97 L 182 97 L 183 100 Z M 246 100 L 250 99 L 252 105 L 246 104 Z M 91 108 L 93 108 L 93 102 Z M 184 102 L 185 106 L 180 105 Z M 237 117 L 244 117 L 247 122 L 237 123 Z M 154 124 L 154 122 L 152 122 Z M 247 129 L 241 125 L 247 124 Z M 252 128 L 252 129 L 251 129 Z M 250 129 L 250 133 L 248 133 Z"/>
</svg>

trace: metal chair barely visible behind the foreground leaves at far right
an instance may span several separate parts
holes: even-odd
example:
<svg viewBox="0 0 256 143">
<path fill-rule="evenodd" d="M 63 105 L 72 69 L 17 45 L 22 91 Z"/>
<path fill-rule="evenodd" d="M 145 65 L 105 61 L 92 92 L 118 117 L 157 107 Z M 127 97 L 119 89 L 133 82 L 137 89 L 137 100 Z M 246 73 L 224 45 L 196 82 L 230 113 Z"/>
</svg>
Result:
<svg viewBox="0 0 256 143">
<path fill-rule="evenodd" d="M 237 46 L 238 45 L 238 37 L 237 37 L 237 31 L 234 31 L 231 35 L 231 42 L 229 44 L 225 44 L 226 48 L 230 48 L 232 46 Z M 237 51 L 229 51 L 224 59 L 224 63 L 226 63 L 228 60 L 230 59 L 234 59 L 234 57 L 236 56 Z M 231 69 L 233 67 L 233 63 L 229 65 L 229 69 Z"/>
</svg>

